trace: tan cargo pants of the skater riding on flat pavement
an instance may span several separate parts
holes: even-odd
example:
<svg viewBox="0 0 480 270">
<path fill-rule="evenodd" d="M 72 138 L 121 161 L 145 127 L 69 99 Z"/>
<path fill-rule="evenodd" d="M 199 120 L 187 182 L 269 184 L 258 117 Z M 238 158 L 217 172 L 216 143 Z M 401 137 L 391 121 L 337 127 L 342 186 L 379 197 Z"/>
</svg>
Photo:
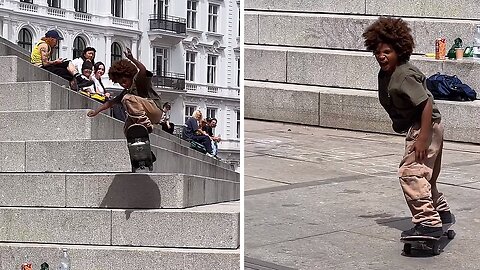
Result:
<svg viewBox="0 0 480 270">
<path fill-rule="evenodd" d="M 432 138 L 423 163 L 415 161 L 413 144 L 420 133 L 420 124 L 412 126 L 405 138 L 405 155 L 398 174 L 412 222 L 430 227 L 441 227 L 438 211 L 450 211 L 445 197 L 437 189 L 437 178 L 442 163 L 443 125 L 432 123 Z"/>
</svg>

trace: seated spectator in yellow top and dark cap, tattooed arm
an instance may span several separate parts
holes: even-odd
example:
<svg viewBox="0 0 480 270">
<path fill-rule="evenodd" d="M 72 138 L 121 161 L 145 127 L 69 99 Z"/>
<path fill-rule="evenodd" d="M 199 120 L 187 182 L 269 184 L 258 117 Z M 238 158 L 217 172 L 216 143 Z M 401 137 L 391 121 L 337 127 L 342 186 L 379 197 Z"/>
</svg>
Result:
<svg viewBox="0 0 480 270">
<path fill-rule="evenodd" d="M 63 40 L 63 38 L 60 37 L 57 31 L 50 30 L 45 33 L 45 37 L 42 37 L 32 49 L 31 63 L 66 79 L 70 82 L 72 89 L 77 88 L 76 84 L 90 83 L 92 85 L 93 82 L 88 82 L 88 80 L 81 77 L 72 61 L 62 58 L 54 61 L 50 60 L 59 40 Z"/>
</svg>

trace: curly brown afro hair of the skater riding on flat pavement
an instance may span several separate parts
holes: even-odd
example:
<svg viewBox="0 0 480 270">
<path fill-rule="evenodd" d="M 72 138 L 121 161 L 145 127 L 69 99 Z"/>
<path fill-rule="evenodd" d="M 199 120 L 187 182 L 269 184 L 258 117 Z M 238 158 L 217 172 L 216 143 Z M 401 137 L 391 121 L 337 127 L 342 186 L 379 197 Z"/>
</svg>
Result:
<svg viewBox="0 0 480 270">
<path fill-rule="evenodd" d="M 415 47 L 411 32 L 412 29 L 400 18 L 380 17 L 367 27 L 362 37 L 365 39 L 367 50 L 374 52 L 378 44 L 387 43 L 398 54 L 398 60 L 406 62 L 410 60 Z"/>
</svg>

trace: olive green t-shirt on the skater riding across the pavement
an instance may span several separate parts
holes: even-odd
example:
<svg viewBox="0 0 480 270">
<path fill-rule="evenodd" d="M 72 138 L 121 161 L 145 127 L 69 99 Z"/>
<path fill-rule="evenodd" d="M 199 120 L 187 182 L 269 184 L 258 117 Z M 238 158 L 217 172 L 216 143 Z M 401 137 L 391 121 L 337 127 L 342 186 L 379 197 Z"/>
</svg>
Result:
<svg viewBox="0 0 480 270">
<path fill-rule="evenodd" d="M 380 70 L 378 98 L 392 119 L 395 132 L 404 133 L 421 121 L 423 107 L 419 105 L 428 98 L 432 100 L 432 122 L 441 119 L 432 93 L 427 89 L 425 75 L 410 62 L 397 66 L 391 75 Z"/>
</svg>

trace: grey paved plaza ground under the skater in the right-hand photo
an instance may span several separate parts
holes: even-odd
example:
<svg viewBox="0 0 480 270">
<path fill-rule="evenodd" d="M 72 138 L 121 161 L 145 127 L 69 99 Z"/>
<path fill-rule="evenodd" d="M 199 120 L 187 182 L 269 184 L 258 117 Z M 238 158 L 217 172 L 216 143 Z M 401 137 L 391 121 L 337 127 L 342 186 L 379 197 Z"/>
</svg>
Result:
<svg viewBox="0 0 480 270">
<path fill-rule="evenodd" d="M 404 138 L 245 120 L 245 269 L 480 269 L 480 146 L 445 142 L 457 236 L 402 255 Z"/>
</svg>

